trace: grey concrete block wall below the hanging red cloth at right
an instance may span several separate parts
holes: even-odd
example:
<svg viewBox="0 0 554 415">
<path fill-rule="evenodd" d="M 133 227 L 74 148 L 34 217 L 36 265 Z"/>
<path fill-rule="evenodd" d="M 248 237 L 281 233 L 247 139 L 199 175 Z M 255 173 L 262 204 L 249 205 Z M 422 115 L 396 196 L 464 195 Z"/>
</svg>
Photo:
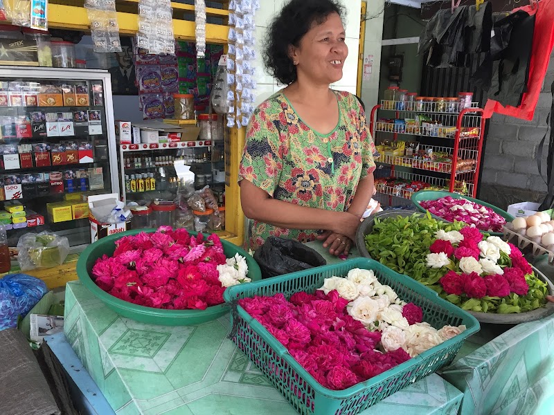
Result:
<svg viewBox="0 0 554 415">
<path fill-rule="evenodd" d="M 546 194 L 546 154 L 548 154 L 547 118 L 551 110 L 551 85 L 554 81 L 554 53 L 539 97 L 535 118 L 526 122 L 494 114 L 488 120 L 483 176 L 479 197 L 506 208 L 519 201 L 542 201 Z M 539 174 L 535 151 L 548 132 Z"/>
</svg>

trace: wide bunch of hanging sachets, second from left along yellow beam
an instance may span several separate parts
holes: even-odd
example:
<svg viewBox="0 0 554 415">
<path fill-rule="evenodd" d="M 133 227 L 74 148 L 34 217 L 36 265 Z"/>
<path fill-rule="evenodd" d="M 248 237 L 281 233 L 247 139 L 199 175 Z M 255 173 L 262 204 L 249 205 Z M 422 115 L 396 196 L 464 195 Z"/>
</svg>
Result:
<svg viewBox="0 0 554 415">
<path fill-rule="evenodd" d="M 136 45 L 152 55 L 175 55 L 170 0 L 139 0 Z"/>
</svg>

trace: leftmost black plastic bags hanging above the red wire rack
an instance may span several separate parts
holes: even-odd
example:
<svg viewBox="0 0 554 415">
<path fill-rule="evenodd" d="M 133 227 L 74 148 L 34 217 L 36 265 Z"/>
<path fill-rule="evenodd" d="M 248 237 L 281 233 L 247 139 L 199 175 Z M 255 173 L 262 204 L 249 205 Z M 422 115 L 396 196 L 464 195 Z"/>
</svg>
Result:
<svg viewBox="0 0 554 415">
<path fill-rule="evenodd" d="M 489 2 L 479 10 L 476 6 L 460 6 L 454 12 L 439 10 L 420 36 L 418 53 L 429 51 L 429 66 L 466 66 L 467 55 L 490 50 L 491 29 Z"/>
</svg>

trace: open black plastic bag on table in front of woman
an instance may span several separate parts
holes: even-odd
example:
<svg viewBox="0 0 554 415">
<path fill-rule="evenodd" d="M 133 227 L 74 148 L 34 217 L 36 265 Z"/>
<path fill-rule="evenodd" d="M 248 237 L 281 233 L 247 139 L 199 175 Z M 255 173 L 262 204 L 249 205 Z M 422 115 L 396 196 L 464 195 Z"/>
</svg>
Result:
<svg viewBox="0 0 554 415">
<path fill-rule="evenodd" d="M 307 270 L 326 265 L 318 252 L 291 239 L 269 237 L 254 252 L 254 259 L 262 270 L 262 278 Z"/>
</svg>

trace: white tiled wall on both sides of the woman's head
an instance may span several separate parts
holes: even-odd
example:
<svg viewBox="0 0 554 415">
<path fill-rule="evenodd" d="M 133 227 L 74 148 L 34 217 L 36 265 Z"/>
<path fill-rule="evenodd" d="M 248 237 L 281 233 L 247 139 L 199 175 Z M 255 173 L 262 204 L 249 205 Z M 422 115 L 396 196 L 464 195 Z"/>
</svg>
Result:
<svg viewBox="0 0 554 415">
<path fill-rule="evenodd" d="M 280 9 L 283 8 L 283 5 L 287 3 L 287 0 L 263 0 L 260 3 L 261 8 L 258 12 L 256 12 L 255 79 L 258 82 L 258 87 L 256 88 L 256 105 L 260 104 L 269 98 L 269 96 L 284 87 L 283 85 L 278 84 L 277 80 L 265 71 L 262 62 L 262 47 L 269 22 L 273 19 L 276 12 L 279 12 Z M 343 68 L 342 79 L 332 85 L 332 88 L 356 93 L 361 0 L 343 1 L 343 5 L 346 6 L 347 9 L 345 27 L 346 44 L 348 45 L 348 58 L 346 59 Z"/>
</svg>

